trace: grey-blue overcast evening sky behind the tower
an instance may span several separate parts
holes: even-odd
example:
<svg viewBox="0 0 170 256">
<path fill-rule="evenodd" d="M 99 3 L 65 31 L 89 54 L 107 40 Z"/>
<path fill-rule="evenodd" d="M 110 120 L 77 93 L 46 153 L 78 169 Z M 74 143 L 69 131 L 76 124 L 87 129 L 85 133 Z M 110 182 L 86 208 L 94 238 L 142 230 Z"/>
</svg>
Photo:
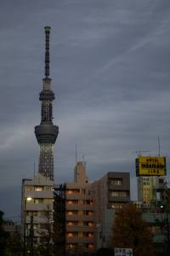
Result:
<svg viewBox="0 0 170 256">
<path fill-rule="evenodd" d="M 1 0 L 0 209 L 20 217 L 21 181 L 39 147 L 44 26 L 50 53 L 55 183 L 73 178 L 75 147 L 94 181 L 131 172 L 135 151 L 170 160 L 169 0 Z M 169 168 L 168 168 L 169 169 Z"/>
</svg>

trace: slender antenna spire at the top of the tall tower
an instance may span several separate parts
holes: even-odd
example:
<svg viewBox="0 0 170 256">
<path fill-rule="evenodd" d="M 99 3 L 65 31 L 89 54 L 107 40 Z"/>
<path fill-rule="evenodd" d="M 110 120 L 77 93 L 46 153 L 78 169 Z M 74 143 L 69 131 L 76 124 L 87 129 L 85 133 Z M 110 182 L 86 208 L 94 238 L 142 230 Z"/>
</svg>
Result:
<svg viewBox="0 0 170 256">
<path fill-rule="evenodd" d="M 50 26 L 45 26 L 45 77 L 48 79 L 49 77 L 49 34 L 50 34 Z"/>
</svg>

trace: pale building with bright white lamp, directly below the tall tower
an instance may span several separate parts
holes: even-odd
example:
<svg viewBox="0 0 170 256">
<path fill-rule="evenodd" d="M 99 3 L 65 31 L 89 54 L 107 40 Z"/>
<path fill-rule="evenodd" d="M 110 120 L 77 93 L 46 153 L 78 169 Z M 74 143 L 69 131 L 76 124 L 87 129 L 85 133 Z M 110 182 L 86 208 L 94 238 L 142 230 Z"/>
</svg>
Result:
<svg viewBox="0 0 170 256">
<path fill-rule="evenodd" d="M 46 244 L 47 237 L 53 233 L 54 181 L 40 173 L 32 179 L 23 179 L 21 200 L 21 224 L 25 245 Z M 52 237 L 50 242 L 53 243 Z"/>
</svg>

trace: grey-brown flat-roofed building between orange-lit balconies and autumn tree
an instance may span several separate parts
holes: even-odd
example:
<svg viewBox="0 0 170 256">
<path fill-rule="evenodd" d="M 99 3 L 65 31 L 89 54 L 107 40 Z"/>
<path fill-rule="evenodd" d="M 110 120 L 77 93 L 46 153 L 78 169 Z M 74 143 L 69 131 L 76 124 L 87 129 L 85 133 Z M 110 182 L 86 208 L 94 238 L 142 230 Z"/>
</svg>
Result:
<svg viewBox="0 0 170 256">
<path fill-rule="evenodd" d="M 98 249 L 109 245 L 115 213 L 130 201 L 129 172 L 108 172 L 93 184 L 93 189 L 95 247 Z"/>
</svg>

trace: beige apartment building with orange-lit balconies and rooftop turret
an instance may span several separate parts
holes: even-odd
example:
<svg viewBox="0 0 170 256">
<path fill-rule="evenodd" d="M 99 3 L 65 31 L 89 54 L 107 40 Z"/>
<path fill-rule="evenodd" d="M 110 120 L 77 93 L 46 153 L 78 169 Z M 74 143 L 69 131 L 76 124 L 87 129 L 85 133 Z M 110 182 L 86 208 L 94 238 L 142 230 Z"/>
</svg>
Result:
<svg viewBox="0 0 170 256">
<path fill-rule="evenodd" d="M 74 182 L 66 183 L 65 242 L 66 251 L 94 251 L 94 198 L 88 182 L 86 165 L 77 162 Z"/>
</svg>

